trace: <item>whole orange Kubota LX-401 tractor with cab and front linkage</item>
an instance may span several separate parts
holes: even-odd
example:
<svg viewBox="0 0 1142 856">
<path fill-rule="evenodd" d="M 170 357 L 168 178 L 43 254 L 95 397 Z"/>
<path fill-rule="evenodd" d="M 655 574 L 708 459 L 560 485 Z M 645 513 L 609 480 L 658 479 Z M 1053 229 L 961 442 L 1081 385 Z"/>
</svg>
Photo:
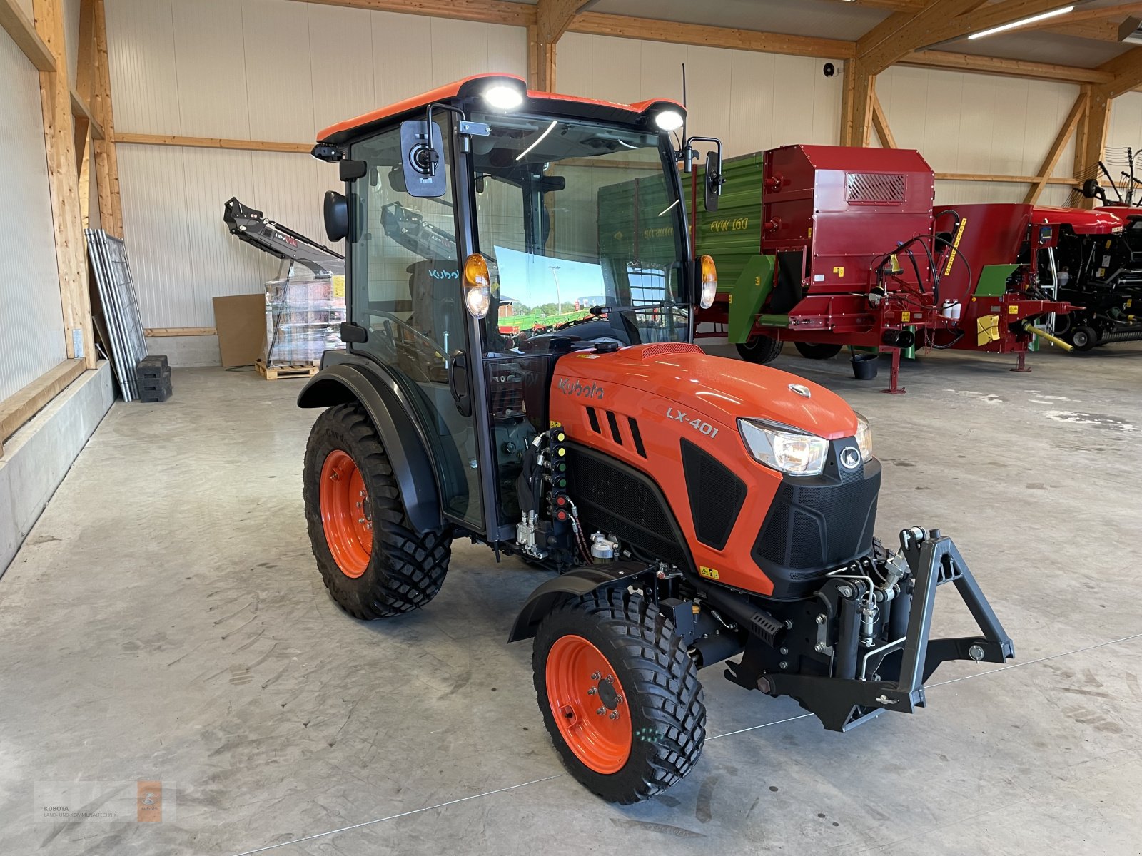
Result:
<svg viewBox="0 0 1142 856">
<path fill-rule="evenodd" d="M 862 417 L 691 342 L 717 283 L 691 258 L 683 119 L 482 75 L 314 147 L 345 181 L 325 223 L 348 276 L 347 348 L 298 401 L 327 407 L 304 474 L 317 567 L 357 619 L 428 604 L 456 538 L 558 572 L 509 640 L 534 640 L 563 761 L 617 802 L 698 761 L 706 665 L 740 655 L 731 680 L 846 730 L 924 706 L 946 660 L 1013 656 L 947 536 L 874 539 Z M 978 637 L 928 638 L 942 583 Z"/>
</svg>

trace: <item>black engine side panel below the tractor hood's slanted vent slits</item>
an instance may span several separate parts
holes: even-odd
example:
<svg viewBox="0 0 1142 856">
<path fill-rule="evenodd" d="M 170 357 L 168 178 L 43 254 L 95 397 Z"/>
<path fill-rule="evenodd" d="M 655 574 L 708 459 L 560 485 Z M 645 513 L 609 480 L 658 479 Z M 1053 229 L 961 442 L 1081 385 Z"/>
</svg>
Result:
<svg viewBox="0 0 1142 856">
<path fill-rule="evenodd" d="M 690 565 L 677 524 L 650 477 L 576 444 L 569 444 L 568 473 L 588 535 L 602 530 L 662 562 Z"/>
</svg>

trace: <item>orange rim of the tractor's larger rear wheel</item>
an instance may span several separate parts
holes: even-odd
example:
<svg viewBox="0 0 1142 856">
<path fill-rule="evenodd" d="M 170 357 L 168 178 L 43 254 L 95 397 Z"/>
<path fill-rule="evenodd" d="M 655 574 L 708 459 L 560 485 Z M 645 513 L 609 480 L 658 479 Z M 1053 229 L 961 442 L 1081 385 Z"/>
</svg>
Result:
<svg viewBox="0 0 1142 856">
<path fill-rule="evenodd" d="M 317 500 L 333 562 L 346 576 L 359 578 L 372 554 L 372 511 L 364 478 L 348 452 L 335 449 L 325 455 Z"/>
</svg>

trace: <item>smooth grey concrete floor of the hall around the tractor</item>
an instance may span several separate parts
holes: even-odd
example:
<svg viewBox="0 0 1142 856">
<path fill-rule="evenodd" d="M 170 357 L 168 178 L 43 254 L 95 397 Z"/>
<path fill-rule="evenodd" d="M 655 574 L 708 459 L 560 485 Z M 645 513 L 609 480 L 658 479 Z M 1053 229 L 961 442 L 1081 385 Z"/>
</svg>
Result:
<svg viewBox="0 0 1142 856">
<path fill-rule="evenodd" d="M 943 667 L 927 710 L 847 735 L 708 669 L 698 768 L 605 805 L 504 643 L 542 575 L 458 543 L 428 608 L 346 617 L 305 533 L 300 383 L 176 371 L 169 403 L 112 409 L 0 579 L 0 854 L 1142 854 L 1142 347 L 940 354 L 902 397 L 788 350 L 872 420 L 880 535 L 951 534 L 1013 665 Z M 35 818 L 35 782 L 139 778 L 175 819 Z"/>
</svg>

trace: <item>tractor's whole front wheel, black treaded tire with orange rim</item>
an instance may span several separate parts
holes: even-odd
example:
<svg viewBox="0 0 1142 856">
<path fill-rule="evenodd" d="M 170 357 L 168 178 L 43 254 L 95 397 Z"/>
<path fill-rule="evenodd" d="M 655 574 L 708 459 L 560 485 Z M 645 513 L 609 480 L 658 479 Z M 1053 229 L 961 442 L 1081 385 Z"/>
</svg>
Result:
<svg viewBox="0 0 1142 856">
<path fill-rule="evenodd" d="M 608 802 L 649 799 L 698 762 L 698 669 L 673 622 L 641 595 L 606 589 L 564 601 L 538 628 L 532 667 L 564 766 Z"/>
</svg>

